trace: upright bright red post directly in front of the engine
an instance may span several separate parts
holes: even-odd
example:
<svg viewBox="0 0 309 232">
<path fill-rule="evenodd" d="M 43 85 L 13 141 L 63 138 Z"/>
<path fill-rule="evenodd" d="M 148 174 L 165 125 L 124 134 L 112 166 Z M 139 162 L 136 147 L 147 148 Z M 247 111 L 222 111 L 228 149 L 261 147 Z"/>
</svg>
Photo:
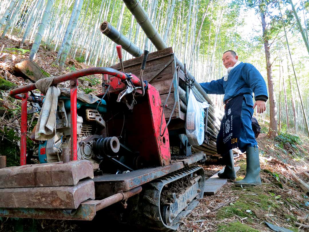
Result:
<svg viewBox="0 0 309 232">
<path fill-rule="evenodd" d="M 71 160 L 77 160 L 77 79 L 70 81 Z"/>
</svg>

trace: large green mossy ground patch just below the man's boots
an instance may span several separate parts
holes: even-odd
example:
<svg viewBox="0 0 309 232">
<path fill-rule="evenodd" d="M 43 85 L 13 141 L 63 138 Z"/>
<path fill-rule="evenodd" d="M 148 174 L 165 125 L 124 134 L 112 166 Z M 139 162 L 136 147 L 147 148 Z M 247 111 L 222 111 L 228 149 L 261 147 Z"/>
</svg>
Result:
<svg viewBox="0 0 309 232">
<path fill-rule="evenodd" d="M 251 217 L 256 217 L 255 211 L 269 211 L 271 208 L 279 208 L 276 202 L 269 195 L 262 193 L 259 187 L 247 187 L 243 192 L 242 188 L 234 187 L 234 190 L 241 193 L 235 203 L 222 207 L 217 214 L 218 219 L 229 218 L 232 215 L 239 217 L 248 217 L 248 221 L 252 221 Z M 251 210 L 246 212 L 246 210 Z"/>
</svg>

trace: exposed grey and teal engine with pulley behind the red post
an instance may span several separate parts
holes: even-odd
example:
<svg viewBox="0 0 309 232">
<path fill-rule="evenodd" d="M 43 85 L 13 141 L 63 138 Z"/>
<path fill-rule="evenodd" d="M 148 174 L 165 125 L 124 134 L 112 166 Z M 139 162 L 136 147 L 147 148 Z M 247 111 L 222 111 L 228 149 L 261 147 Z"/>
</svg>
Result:
<svg viewBox="0 0 309 232">
<path fill-rule="evenodd" d="M 120 148 L 117 137 L 106 136 L 102 117 L 107 111 L 106 101 L 88 104 L 78 100 L 77 109 L 78 160 L 87 159 L 98 170 L 102 154 L 113 157 Z M 70 98 L 59 97 L 56 118 L 56 135 L 39 146 L 40 163 L 62 161 L 63 153 L 70 152 Z"/>
</svg>

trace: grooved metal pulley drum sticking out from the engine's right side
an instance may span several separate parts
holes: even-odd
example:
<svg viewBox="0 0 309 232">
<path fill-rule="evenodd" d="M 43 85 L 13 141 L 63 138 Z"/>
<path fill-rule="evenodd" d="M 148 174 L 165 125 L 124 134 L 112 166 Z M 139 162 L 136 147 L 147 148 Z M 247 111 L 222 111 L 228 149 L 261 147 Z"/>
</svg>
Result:
<svg viewBox="0 0 309 232">
<path fill-rule="evenodd" d="M 93 148 L 95 153 L 99 155 L 108 155 L 111 153 L 117 153 L 120 149 L 120 142 L 117 137 L 106 137 L 98 139 L 94 144 Z"/>
</svg>

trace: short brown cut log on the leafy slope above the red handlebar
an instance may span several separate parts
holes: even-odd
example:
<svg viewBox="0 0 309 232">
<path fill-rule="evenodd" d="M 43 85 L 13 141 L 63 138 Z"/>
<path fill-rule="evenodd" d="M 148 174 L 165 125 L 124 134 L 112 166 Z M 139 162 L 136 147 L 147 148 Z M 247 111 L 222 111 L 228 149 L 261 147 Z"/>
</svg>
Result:
<svg viewBox="0 0 309 232">
<path fill-rule="evenodd" d="M 28 59 L 15 64 L 15 72 L 23 78 L 32 80 L 32 82 L 50 76 L 49 73 L 45 72 L 36 62 Z"/>
</svg>

